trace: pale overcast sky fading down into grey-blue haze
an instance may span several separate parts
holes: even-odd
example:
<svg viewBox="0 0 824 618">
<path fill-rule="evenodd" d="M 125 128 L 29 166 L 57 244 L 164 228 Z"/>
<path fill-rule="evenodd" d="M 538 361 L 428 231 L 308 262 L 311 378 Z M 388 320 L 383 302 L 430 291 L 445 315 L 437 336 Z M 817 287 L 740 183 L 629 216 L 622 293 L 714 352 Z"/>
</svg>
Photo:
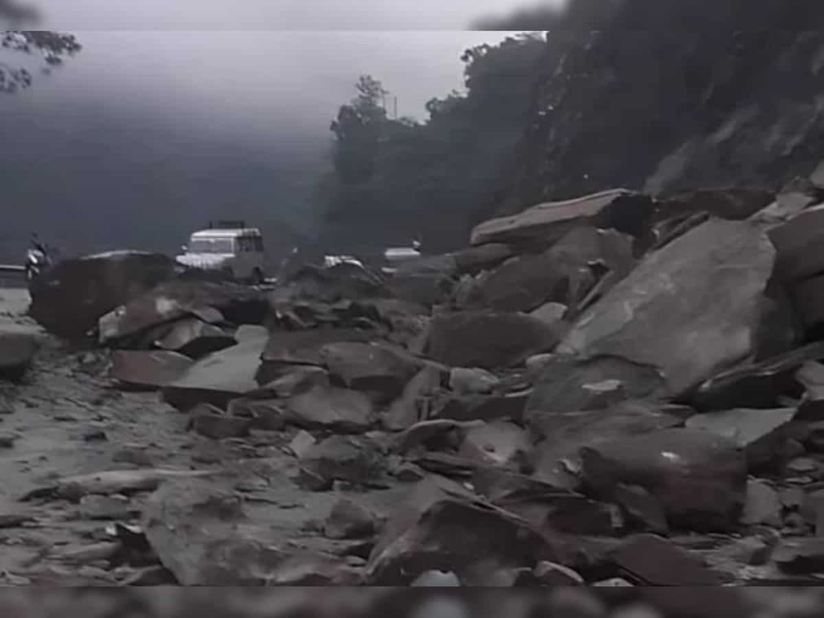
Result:
<svg viewBox="0 0 824 618">
<path fill-rule="evenodd" d="M 466 30 L 471 21 L 512 8 L 512 0 L 29 1 L 44 12 L 41 27 L 74 32 L 83 50 L 0 98 L 0 180 L 24 204 L 8 233 L 52 226 L 115 246 L 135 237 L 149 208 L 167 223 L 176 209 L 178 228 L 168 223 L 164 238 L 147 227 L 142 243 L 178 242 L 195 216 L 209 208 L 217 216 L 228 202 L 248 204 L 250 217 L 275 204 L 297 224 L 303 188 L 322 165 L 307 160 L 328 156 L 330 120 L 358 76 L 382 80 L 399 115 L 423 120 L 428 99 L 462 87 L 461 53 L 507 35 Z M 101 194 L 103 180 L 110 188 Z M 119 232 L 107 219 L 113 192 Z"/>
</svg>

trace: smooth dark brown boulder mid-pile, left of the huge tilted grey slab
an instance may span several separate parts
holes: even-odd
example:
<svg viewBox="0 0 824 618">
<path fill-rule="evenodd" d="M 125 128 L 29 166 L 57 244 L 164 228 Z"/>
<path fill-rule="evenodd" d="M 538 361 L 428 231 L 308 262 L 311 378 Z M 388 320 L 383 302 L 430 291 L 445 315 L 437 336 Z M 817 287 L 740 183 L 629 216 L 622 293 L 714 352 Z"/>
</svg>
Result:
<svg viewBox="0 0 824 618">
<path fill-rule="evenodd" d="M 562 328 L 521 313 L 441 313 L 430 323 L 425 352 L 454 367 L 510 367 L 554 348 Z"/>
</svg>

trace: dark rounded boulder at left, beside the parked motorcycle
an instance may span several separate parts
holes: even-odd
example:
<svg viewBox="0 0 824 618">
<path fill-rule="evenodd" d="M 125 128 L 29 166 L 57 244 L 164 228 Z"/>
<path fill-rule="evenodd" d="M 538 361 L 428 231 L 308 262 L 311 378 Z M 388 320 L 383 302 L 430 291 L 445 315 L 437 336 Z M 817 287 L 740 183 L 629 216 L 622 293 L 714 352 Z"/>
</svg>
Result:
<svg viewBox="0 0 824 618">
<path fill-rule="evenodd" d="M 66 339 L 85 339 L 109 311 L 185 268 L 166 255 L 114 251 L 63 260 L 31 287 L 30 316 Z"/>
</svg>

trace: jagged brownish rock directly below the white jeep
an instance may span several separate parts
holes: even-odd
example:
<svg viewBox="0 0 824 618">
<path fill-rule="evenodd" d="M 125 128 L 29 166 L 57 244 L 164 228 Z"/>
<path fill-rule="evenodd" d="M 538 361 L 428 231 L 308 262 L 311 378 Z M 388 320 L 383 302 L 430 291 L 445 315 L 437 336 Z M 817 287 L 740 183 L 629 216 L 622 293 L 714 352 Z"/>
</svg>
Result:
<svg viewBox="0 0 824 618">
<path fill-rule="evenodd" d="M 128 345 L 154 326 L 208 309 L 217 309 L 230 322 L 259 324 L 268 304 L 255 288 L 236 283 L 169 281 L 101 316 L 99 339 L 101 344 Z"/>
</svg>

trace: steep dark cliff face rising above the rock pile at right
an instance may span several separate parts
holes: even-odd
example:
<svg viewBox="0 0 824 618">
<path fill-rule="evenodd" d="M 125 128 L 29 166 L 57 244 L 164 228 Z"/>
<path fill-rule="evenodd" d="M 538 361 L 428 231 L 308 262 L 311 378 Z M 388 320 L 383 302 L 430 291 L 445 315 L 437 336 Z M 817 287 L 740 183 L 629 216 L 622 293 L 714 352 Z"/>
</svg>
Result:
<svg viewBox="0 0 824 618">
<path fill-rule="evenodd" d="M 572 2 L 498 212 L 616 186 L 777 188 L 824 158 L 824 2 Z"/>
</svg>

